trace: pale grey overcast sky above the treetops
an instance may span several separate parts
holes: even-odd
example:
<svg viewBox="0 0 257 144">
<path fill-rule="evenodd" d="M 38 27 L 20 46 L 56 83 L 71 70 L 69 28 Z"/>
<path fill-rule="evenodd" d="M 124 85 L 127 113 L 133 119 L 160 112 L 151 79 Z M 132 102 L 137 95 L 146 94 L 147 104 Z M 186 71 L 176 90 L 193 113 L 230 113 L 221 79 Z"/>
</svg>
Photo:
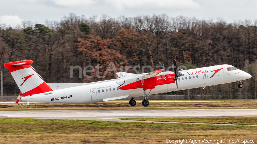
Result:
<svg viewBox="0 0 257 144">
<path fill-rule="evenodd" d="M 23 20 L 44 23 L 69 13 L 91 17 L 166 14 L 226 22 L 256 20 L 256 0 L 0 0 L 0 24 L 15 27 Z"/>
</svg>

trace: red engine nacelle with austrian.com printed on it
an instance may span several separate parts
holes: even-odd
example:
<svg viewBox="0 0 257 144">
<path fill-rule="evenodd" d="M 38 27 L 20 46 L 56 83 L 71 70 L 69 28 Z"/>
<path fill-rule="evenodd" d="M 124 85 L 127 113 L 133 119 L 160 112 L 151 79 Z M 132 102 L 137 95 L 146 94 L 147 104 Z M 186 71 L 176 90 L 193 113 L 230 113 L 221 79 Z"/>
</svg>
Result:
<svg viewBox="0 0 257 144">
<path fill-rule="evenodd" d="M 138 80 L 133 83 L 129 83 L 127 85 L 124 85 L 122 87 L 119 87 L 119 89 L 138 89 L 143 87 L 149 87 L 149 86 L 156 86 L 156 85 L 165 85 L 169 83 L 175 83 L 175 74 L 168 74 L 168 75 L 160 75 L 156 77 L 150 77 L 148 79 Z"/>
</svg>

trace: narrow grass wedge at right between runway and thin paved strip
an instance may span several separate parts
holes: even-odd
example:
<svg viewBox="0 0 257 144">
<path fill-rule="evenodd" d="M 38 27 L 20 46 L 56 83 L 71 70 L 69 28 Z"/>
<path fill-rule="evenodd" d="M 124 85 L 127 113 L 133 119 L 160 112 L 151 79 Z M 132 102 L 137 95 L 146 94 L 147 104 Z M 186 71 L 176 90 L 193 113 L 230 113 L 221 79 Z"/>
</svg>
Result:
<svg viewBox="0 0 257 144">
<path fill-rule="evenodd" d="M 257 117 L 183 117 L 183 118 L 120 118 L 121 120 L 141 120 L 155 122 L 188 122 L 206 124 L 242 124 L 257 125 Z"/>
</svg>

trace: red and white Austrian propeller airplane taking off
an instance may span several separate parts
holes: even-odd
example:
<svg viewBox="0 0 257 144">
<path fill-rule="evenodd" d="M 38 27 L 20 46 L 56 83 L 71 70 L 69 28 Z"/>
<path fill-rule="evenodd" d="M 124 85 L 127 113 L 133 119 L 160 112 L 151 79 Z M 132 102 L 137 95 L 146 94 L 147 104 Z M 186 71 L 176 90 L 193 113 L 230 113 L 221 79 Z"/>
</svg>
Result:
<svg viewBox="0 0 257 144">
<path fill-rule="evenodd" d="M 196 69 L 179 70 L 174 60 L 173 71 L 159 69 L 150 73 L 133 74 L 118 72 L 118 79 L 93 83 L 46 83 L 31 66 L 33 61 L 5 63 L 27 102 L 62 104 L 92 104 L 110 100 L 131 98 L 130 106 L 135 106 L 135 97 L 144 96 L 143 106 L 148 106 L 150 93 L 164 93 L 225 83 L 239 82 L 252 76 L 232 65 L 215 65 Z M 21 94 L 20 94 L 21 95 Z"/>
</svg>

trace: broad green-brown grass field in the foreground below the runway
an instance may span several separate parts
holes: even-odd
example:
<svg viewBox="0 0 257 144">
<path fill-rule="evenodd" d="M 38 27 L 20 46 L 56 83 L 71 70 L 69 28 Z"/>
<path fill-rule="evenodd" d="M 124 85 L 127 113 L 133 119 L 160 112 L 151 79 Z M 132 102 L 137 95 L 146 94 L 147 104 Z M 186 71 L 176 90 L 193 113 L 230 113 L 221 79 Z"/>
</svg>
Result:
<svg viewBox="0 0 257 144">
<path fill-rule="evenodd" d="M 0 119 L 0 143 L 166 143 L 166 139 L 254 139 L 254 126 Z"/>
</svg>

